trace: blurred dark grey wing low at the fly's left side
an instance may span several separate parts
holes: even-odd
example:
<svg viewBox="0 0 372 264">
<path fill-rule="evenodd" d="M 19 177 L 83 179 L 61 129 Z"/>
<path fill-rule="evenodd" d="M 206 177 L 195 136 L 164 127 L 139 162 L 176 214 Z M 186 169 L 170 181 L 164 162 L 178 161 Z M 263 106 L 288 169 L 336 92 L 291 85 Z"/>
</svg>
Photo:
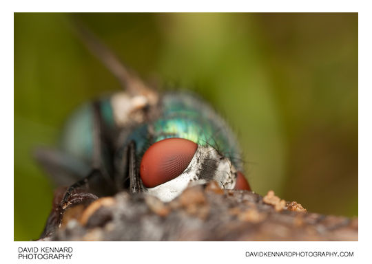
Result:
<svg viewBox="0 0 372 264">
<path fill-rule="evenodd" d="M 34 157 L 57 186 L 69 186 L 90 172 L 81 160 L 52 148 L 37 148 Z"/>
</svg>

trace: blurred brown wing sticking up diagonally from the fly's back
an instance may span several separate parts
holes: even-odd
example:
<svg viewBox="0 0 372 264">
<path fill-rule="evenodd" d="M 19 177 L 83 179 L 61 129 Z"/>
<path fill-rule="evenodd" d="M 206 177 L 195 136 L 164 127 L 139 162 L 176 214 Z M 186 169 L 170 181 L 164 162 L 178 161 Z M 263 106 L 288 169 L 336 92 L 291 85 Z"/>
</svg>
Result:
<svg viewBox="0 0 372 264">
<path fill-rule="evenodd" d="M 117 56 L 83 23 L 76 17 L 72 17 L 74 32 L 85 44 L 87 49 L 114 74 L 121 86 L 131 96 L 146 96 L 148 99 L 157 100 L 156 93 L 152 91 L 141 78 L 138 78 L 128 67 L 117 58 Z M 156 98 L 154 98 L 156 97 Z"/>
</svg>

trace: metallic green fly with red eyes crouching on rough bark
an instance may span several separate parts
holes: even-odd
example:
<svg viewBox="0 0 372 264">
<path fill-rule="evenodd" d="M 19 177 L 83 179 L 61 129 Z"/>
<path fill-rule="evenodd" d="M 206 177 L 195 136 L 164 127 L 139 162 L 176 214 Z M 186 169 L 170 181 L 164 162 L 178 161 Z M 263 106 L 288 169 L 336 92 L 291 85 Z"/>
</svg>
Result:
<svg viewBox="0 0 372 264">
<path fill-rule="evenodd" d="M 79 23 L 76 28 L 123 91 L 83 104 L 65 124 L 60 148 L 37 150 L 57 184 L 72 184 L 59 203 L 56 224 L 78 188 L 97 197 L 148 192 L 165 202 L 189 184 L 211 180 L 221 188 L 251 190 L 236 137 L 209 104 L 185 92 L 158 94 L 92 32 Z"/>
</svg>

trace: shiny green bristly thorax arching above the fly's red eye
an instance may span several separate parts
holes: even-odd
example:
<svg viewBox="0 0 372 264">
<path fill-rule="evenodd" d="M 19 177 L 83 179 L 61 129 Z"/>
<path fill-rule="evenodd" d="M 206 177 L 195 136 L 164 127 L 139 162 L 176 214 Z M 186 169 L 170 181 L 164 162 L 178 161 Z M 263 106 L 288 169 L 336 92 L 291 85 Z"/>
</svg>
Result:
<svg viewBox="0 0 372 264">
<path fill-rule="evenodd" d="M 231 129 L 212 109 L 196 96 L 186 93 L 168 93 L 162 99 L 162 115 L 154 121 L 152 143 L 169 137 L 181 137 L 196 144 L 210 145 L 231 158 L 234 166 L 242 169 L 240 150 Z"/>
</svg>

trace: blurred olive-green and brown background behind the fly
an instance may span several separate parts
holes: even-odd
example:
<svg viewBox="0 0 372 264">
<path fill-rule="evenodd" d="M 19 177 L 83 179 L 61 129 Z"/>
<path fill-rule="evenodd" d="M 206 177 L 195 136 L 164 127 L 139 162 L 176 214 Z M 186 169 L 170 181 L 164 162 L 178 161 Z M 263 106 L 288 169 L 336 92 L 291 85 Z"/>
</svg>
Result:
<svg viewBox="0 0 372 264">
<path fill-rule="evenodd" d="M 256 192 L 358 215 L 358 14 L 77 16 L 145 80 L 207 98 L 238 134 Z M 14 240 L 37 239 L 52 203 L 32 149 L 118 89 L 69 14 L 14 14 Z"/>
</svg>

